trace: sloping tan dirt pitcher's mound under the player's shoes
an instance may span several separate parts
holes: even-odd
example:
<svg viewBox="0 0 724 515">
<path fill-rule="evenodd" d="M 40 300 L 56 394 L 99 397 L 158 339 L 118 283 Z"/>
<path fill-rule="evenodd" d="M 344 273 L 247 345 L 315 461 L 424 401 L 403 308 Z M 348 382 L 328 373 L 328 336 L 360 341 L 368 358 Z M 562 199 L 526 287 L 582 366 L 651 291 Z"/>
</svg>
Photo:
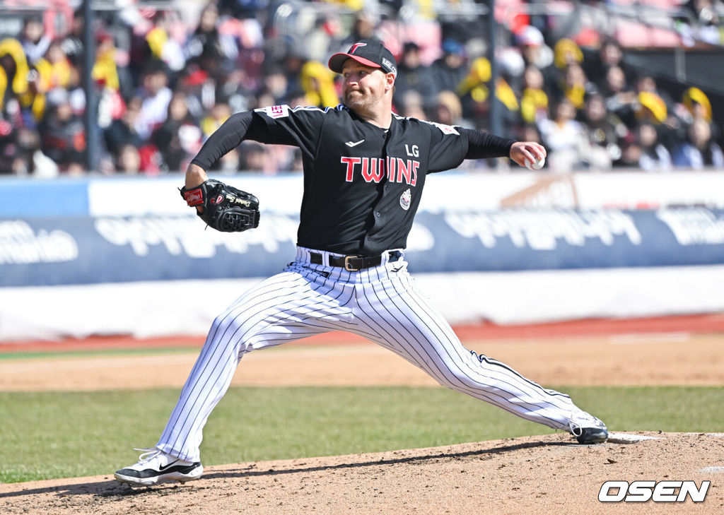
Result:
<svg viewBox="0 0 724 515">
<path fill-rule="evenodd" d="M 648 433 L 647 433 L 648 434 Z M 724 435 L 649 434 L 633 445 L 565 435 L 209 467 L 201 480 L 132 489 L 111 476 L 0 485 L 3 514 L 721 514 Z M 610 480 L 711 481 L 703 503 L 598 500 Z M 612 495 L 615 491 L 610 492 Z"/>
</svg>

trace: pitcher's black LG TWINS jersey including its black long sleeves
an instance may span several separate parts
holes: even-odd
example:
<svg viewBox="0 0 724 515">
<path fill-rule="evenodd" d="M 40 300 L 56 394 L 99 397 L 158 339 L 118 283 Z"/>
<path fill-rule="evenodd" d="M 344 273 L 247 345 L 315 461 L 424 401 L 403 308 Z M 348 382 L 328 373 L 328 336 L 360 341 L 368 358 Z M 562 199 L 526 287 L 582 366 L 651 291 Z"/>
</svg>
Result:
<svg viewBox="0 0 724 515">
<path fill-rule="evenodd" d="M 471 157 L 471 138 L 476 150 L 488 150 L 484 157 L 504 156 L 512 145 L 492 135 L 492 142 L 481 142 L 478 135 L 486 133 L 479 131 L 394 114 L 390 128 L 382 129 L 343 105 L 259 108 L 247 123 L 248 130 L 233 123 L 219 129 L 219 143 L 205 145 L 193 162 L 207 169 L 241 139 L 298 146 L 304 192 L 297 244 L 346 255 L 405 248 L 427 174 Z"/>
</svg>

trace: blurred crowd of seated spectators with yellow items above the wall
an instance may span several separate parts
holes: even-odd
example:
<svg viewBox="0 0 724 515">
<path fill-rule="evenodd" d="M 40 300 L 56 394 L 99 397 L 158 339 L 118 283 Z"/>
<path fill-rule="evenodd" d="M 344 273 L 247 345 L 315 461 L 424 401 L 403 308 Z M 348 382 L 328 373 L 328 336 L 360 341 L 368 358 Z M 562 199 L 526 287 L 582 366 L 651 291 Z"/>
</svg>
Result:
<svg viewBox="0 0 724 515">
<path fill-rule="evenodd" d="M 517 17 L 510 46 L 497 52 L 491 98 L 480 20 L 423 12 L 418 25 L 403 26 L 348 1 L 334 9 L 320 2 L 325 9 L 313 8 L 309 21 L 301 14 L 312 4 L 299 2 L 286 25 L 280 4 L 266 1 L 211 1 L 193 23 L 175 9 L 99 13 L 92 27 L 98 132 L 90 135 L 82 10 L 53 38 L 42 20 L 28 17 L 17 37 L 0 41 L 0 174 L 85 174 L 90 137 L 100 142 L 94 169 L 102 174 L 181 171 L 237 111 L 336 106 L 340 82 L 326 59 L 361 38 L 379 38 L 397 56 L 397 114 L 489 130 L 495 103 L 503 134 L 541 141 L 549 169 L 724 166 L 707 94 L 690 87 L 673 98 L 654 76 L 626 67 L 625 48 L 598 33 L 553 39 L 544 17 Z M 301 168 L 294 148 L 255 142 L 217 166 L 266 174 Z"/>
</svg>

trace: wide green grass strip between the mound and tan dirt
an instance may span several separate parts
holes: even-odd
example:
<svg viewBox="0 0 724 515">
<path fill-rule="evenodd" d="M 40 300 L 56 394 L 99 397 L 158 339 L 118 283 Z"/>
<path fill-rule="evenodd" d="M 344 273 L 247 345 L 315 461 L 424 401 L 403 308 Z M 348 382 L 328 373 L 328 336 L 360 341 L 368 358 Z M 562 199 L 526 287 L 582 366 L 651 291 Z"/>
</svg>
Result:
<svg viewBox="0 0 724 515">
<path fill-rule="evenodd" d="M 724 432 L 724 388 L 560 388 L 611 430 Z M 0 393 L 0 482 L 110 474 L 153 446 L 177 389 Z M 443 388 L 231 388 L 206 465 L 552 433 Z"/>
</svg>

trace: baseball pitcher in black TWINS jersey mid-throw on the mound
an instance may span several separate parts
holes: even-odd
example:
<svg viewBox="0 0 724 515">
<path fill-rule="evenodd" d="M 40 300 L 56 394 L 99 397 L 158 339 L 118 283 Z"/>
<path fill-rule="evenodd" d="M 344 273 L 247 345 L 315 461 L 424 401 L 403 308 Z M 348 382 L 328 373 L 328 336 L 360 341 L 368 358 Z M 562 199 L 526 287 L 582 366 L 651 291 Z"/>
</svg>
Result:
<svg viewBox="0 0 724 515">
<path fill-rule="evenodd" d="M 405 245 L 428 174 L 464 159 L 507 156 L 525 166 L 545 157 L 542 145 L 396 116 L 397 67 L 378 41 L 335 54 L 329 68 L 342 74 L 342 105 L 235 114 L 188 167 L 182 188 L 188 205 L 214 229 L 243 231 L 259 223 L 258 200 L 209 179 L 206 170 L 243 140 L 300 148 L 296 257 L 216 317 L 158 443 L 139 449 L 138 463 L 116 479 L 130 485 L 198 479 L 203 426 L 240 359 L 326 331 L 364 336 L 443 386 L 568 431 L 579 443 L 605 442 L 606 426 L 565 393 L 465 349 L 407 271 Z"/>
</svg>

